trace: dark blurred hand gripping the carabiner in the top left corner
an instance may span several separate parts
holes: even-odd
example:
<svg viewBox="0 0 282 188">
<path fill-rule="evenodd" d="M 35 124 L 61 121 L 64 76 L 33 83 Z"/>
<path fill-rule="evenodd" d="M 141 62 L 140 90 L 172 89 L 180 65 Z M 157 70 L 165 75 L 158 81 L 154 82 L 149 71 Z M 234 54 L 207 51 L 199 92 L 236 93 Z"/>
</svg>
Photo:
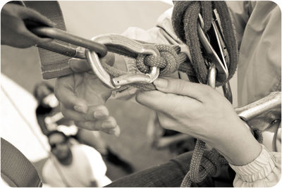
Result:
<svg viewBox="0 0 282 188">
<path fill-rule="evenodd" d="M 24 6 L 5 4 L 1 11 L 1 44 L 17 48 L 27 48 L 51 39 L 40 38 L 27 30 L 24 20 L 32 20 L 50 27 L 54 26 L 44 15 Z"/>
</svg>

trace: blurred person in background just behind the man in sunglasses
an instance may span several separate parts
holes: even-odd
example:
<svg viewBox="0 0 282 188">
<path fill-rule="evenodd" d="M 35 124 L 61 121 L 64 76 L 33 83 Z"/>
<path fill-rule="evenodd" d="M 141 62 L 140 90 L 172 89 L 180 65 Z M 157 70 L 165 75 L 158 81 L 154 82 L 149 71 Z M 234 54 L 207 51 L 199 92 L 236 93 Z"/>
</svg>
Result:
<svg viewBox="0 0 282 188">
<path fill-rule="evenodd" d="M 63 117 L 59 101 L 54 95 L 54 87 L 47 82 L 39 82 L 35 85 L 34 96 L 38 101 L 35 111 L 37 122 L 43 134 L 48 135 L 53 130 L 69 132 L 68 134 L 81 144 L 92 146 L 99 151 L 109 163 L 122 168 L 126 173 L 134 172 L 133 166 L 114 153 L 98 131 L 81 129 L 74 125 L 73 120 Z"/>
</svg>

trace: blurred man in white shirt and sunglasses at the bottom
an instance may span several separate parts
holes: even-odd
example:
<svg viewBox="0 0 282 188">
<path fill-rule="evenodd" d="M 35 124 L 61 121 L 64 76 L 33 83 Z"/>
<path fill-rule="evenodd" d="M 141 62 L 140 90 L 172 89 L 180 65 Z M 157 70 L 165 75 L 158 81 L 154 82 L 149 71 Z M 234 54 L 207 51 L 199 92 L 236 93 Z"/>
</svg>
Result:
<svg viewBox="0 0 282 188">
<path fill-rule="evenodd" d="M 54 156 L 44 163 L 44 182 L 51 187 L 103 187 L 111 183 L 98 151 L 84 144 L 71 143 L 63 132 L 51 131 L 47 137 Z"/>
</svg>

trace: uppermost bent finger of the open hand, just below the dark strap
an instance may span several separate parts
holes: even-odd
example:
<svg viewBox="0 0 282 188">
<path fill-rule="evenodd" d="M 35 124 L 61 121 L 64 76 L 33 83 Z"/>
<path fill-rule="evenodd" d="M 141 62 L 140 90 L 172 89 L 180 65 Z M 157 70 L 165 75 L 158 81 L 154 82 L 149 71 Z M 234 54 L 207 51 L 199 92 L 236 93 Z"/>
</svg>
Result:
<svg viewBox="0 0 282 188">
<path fill-rule="evenodd" d="M 75 109 L 75 111 L 81 113 L 87 113 L 87 102 L 84 99 L 80 99 L 78 96 L 75 96 L 73 88 L 73 75 L 59 77 L 55 84 L 56 98 L 61 101 L 63 106 L 66 108 Z"/>
</svg>

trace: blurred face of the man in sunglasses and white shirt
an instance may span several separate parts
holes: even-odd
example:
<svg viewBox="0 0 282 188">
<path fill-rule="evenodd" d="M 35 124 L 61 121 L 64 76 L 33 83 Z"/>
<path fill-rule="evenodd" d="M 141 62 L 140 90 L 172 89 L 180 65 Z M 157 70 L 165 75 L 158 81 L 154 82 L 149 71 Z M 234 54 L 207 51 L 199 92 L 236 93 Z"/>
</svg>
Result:
<svg viewBox="0 0 282 188">
<path fill-rule="evenodd" d="M 71 154 L 71 149 L 68 146 L 68 142 L 61 134 L 51 134 L 49 137 L 49 144 L 51 146 L 51 152 L 59 160 L 66 159 Z"/>
</svg>

